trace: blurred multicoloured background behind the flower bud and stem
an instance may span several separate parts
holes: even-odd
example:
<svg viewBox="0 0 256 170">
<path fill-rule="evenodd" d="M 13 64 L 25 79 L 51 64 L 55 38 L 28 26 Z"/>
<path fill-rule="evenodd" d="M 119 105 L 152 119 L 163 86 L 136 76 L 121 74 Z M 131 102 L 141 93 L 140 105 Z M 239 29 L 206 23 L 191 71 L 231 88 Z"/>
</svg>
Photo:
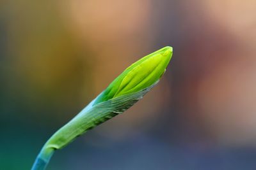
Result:
<svg viewBox="0 0 256 170">
<path fill-rule="evenodd" d="M 45 141 L 132 62 L 163 46 L 163 79 L 54 154 L 55 169 L 256 169 L 256 1 L 0 3 L 0 169 Z"/>
</svg>

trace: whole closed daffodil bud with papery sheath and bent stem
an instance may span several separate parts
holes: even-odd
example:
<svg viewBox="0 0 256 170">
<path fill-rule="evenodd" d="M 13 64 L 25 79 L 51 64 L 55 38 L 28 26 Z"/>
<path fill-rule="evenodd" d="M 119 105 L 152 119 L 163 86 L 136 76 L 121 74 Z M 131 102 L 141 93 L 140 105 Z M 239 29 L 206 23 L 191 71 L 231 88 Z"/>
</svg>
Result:
<svg viewBox="0 0 256 170">
<path fill-rule="evenodd" d="M 166 46 L 125 69 L 84 110 L 52 135 L 36 158 L 32 170 L 44 169 L 55 150 L 139 101 L 158 83 L 171 58 L 172 47 Z"/>
</svg>

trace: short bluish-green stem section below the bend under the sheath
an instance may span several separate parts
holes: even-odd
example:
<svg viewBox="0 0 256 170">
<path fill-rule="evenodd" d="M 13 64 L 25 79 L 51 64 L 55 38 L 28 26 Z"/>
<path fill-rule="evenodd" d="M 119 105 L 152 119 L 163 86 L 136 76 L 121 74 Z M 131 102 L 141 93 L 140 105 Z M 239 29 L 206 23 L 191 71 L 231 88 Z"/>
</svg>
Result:
<svg viewBox="0 0 256 170">
<path fill-rule="evenodd" d="M 44 170 L 47 167 L 54 151 L 54 148 L 43 147 L 40 153 L 37 155 L 31 170 Z"/>
</svg>

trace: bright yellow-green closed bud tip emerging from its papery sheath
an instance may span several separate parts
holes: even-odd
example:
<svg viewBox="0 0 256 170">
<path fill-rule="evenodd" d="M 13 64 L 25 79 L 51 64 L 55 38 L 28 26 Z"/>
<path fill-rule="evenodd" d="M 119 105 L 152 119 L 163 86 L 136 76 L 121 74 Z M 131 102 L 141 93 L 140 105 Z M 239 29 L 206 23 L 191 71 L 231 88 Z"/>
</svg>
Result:
<svg viewBox="0 0 256 170">
<path fill-rule="evenodd" d="M 161 78 L 171 58 L 172 47 L 166 46 L 134 62 L 97 97 L 95 103 L 150 87 Z"/>
</svg>

